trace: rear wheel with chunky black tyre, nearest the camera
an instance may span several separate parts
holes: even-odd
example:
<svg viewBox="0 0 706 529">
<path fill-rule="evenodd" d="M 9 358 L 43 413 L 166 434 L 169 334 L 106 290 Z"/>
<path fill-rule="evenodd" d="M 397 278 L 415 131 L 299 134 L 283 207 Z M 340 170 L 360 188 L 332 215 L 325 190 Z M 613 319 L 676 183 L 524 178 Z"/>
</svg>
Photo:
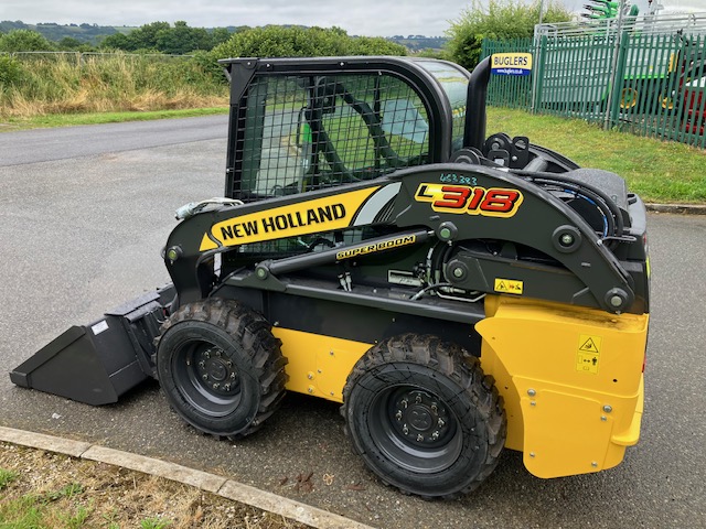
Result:
<svg viewBox="0 0 706 529">
<path fill-rule="evenodd" d="M 505 442 L 502 400 L 478 358 L 435 336 L 371 348 L 343 390 L 353 447 L 386 484 L 425 498 L 473 490 Z"/>
</svg>

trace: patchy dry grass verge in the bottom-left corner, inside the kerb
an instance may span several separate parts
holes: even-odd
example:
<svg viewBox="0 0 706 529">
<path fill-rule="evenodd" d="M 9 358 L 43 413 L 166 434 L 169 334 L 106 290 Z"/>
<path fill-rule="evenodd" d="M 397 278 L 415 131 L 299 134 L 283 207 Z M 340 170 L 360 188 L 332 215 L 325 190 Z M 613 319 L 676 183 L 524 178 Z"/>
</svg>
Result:
<svg viewBox="0 0 706 529">
<path fill-rule="evenodd" d="M 169 479 L 0 443 L 0 528 L 306 529 Z"/>
</svg>

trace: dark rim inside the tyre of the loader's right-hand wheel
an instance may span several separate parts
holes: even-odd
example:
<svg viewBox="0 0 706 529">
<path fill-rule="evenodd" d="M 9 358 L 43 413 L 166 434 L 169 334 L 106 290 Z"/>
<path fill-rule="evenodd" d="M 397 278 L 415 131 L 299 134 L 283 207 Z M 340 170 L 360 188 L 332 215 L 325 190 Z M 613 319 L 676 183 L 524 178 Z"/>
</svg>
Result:
<svg viewBox="0 0 706 529">
<path fill-rule="evenodd" d="M 396 465 L 430 474 L 459 457 L 462 435 L 449 406 L 417 386 L 391 387 L 377 395 L 368 415 L 371 438 Z"/>
</svg>

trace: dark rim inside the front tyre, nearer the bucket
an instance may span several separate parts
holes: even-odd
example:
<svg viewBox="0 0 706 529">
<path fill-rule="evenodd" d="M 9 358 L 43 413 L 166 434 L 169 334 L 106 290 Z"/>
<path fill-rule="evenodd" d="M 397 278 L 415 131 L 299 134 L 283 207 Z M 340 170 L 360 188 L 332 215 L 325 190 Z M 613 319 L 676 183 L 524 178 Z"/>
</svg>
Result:
<svg viewBox="0 0 706 529">
<path fill-rule="evenodd" d="M 234 412 L 240 402 L 240 375 L 235 363 L 217 345 L 189 342 L 173 356 L 174 382 L 200 413 L 218 418 Z"/>
</svg>

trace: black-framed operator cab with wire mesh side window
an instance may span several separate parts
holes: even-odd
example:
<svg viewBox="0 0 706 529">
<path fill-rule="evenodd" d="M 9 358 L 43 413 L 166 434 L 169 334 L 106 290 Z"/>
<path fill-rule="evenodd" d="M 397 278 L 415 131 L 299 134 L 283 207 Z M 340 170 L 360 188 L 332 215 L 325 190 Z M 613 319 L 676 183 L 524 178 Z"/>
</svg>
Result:
<svg viewBox="0 0 706 529">
<path fill-rule="evenodd" d="M 408 57 L 231 58 L 225 195 L 244 202 L 449 160 L 469 73 Z"/>
</svg>

